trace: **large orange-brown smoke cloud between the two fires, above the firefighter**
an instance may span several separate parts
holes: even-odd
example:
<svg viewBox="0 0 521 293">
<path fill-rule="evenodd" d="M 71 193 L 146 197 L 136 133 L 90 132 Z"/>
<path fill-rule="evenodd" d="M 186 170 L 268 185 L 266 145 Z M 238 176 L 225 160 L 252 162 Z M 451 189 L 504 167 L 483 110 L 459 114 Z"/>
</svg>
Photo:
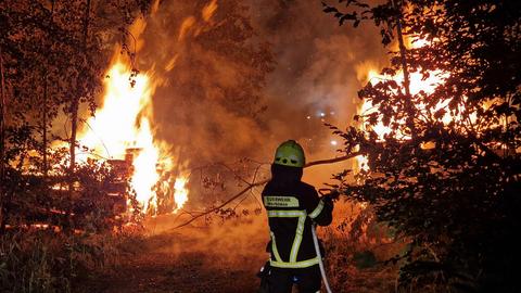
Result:
<svg viewBox="0 0 521 293">
<path fill-rule="evenodd" d="M 242 21 L 238 15 L 250 20 L 250 30 L 227 23 Z M 309 158 L 334 156 L 322 123 L 352 122 L 357 68 L 378 64 L 384 53 L 371 25 L 339 27 L 320 1 L 163 1 L 140 28 L 138 67 L 160 81 L 157 136 L 198 164 L 240 156 L 269 162 L 289 138 L 303 142 Z M 241 55 L 266 42 L 272 72 Z M 252 97 L 252 79 L 263 77 L 265 87 Z"/>
</svg>

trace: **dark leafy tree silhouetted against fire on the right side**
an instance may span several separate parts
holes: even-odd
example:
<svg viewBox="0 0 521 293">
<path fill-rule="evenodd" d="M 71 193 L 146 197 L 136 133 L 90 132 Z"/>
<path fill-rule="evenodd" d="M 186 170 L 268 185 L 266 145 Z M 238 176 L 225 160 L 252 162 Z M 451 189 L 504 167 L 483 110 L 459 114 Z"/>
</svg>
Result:
<svg viewBox="0 0 521 293">
<path fill-rule="evenodd" d="M 391 259 L 403 262 L 402 286 L 519 291 L 511 271 L 520 260 L 512 239 L 521 222 L 520 3 L 347 1 L 346 12 L 323 5 L 341 25 L 372 21 L 384 46 L 425 43 L 399 44 L 385 77 L 358 92 L 372 105 L 355 117 L 361 128 L 332 127 L 345 139 L 343 151 L 366 154 L 370 168 L 358 183 L 344 171 L 338 187 L 371 203 L 380 221 L 410 241 Z M 411 73 L 442 81 L 432 92 L 410 92 Z M 377 125 L 389 131 L 377 133 Z"/>
</svg>

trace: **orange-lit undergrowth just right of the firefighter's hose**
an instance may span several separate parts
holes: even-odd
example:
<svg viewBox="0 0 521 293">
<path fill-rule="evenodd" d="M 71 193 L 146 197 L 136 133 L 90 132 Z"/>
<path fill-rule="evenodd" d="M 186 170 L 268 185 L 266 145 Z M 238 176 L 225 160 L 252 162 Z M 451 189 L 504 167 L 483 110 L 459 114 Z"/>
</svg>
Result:
<svg viewBox="0 0 521 293">
<path fill-rule="evenodd" d="M 345 198 L 344 198 L 345 199 Z M 402 253 L 405 243 L 392 239 L 376 221 L 370 206 L 351 200 L 335 204 L 333 225 L 325 241 L 326 271 L 334 292 L 392 292 L 397 266 L 384 259 Z"/>
</svg>

